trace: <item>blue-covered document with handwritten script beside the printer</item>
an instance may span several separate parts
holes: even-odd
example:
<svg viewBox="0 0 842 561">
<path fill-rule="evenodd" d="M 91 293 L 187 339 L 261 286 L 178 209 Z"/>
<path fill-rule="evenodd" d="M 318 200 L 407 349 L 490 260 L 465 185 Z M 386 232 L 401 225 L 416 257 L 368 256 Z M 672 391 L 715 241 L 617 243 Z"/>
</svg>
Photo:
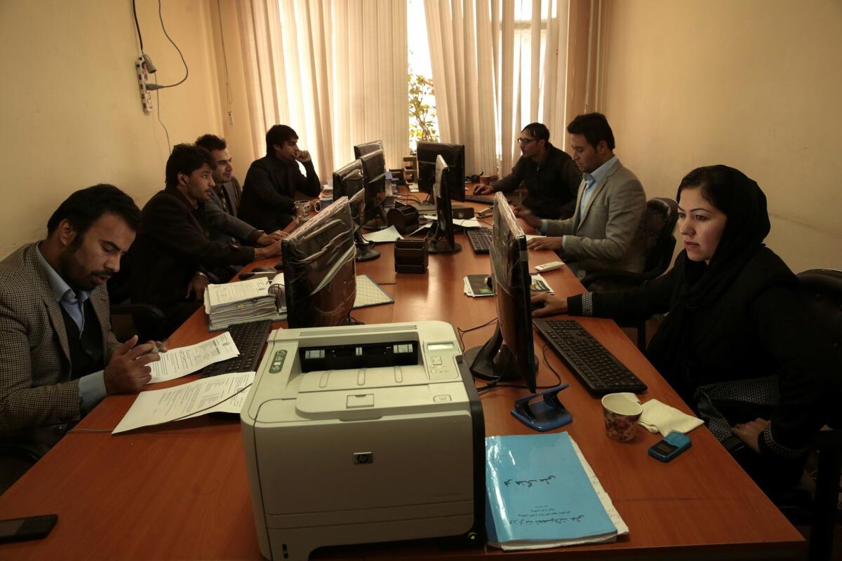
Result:
<svg viewBox="0 0 842 561">
<path fill-rule="evenodd" d="M 487 437 L 485 449 L 489 545 L 557 548 L 628 533 L 567 432 Z"/>
</svg>

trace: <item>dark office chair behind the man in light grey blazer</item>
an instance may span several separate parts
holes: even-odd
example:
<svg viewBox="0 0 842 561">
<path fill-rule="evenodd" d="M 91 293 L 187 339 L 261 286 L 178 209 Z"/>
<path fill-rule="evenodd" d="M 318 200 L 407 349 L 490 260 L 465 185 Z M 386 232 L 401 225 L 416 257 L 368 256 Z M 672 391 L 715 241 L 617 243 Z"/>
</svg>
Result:
<svg viewBox="0 0 842 561">
<path fill-rule="evenodd" d="M 644 281 L 658 278 L 669 268 L 675 249 L 675 223 L 679 220 L 679 205 L 671 198 L 650 198 L 643 215 L 643 230 L 646 239 L 646 265 L 642 273 L 628 271 L 594 271 L 582 279 L 584 288 L 600 283 L 611 290 L 623 290 L 639 286 Z M 617 325 L 631 327 L 637 331 L 637 347 L 646 350 L 646 320 L 618 320 Z"/>
</svg>

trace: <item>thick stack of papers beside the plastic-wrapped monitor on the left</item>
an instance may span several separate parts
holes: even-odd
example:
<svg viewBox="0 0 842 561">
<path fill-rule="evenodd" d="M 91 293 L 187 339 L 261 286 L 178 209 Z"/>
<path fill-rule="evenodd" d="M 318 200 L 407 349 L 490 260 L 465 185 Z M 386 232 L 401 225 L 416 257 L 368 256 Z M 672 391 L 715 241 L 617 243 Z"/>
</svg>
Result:
<svg viewBox="0 0 842 561">
<path fill-rule="evenodd" d="M 286 307 L 279 310 L 274 294 L 269 293 L 272 283 L 276 283 L 275 279 L 252 278 L 239 283 L 209 284 L 205 289 L 208 329 L 216 331 L 246 321 L 285 320 Z"/>
</svg>

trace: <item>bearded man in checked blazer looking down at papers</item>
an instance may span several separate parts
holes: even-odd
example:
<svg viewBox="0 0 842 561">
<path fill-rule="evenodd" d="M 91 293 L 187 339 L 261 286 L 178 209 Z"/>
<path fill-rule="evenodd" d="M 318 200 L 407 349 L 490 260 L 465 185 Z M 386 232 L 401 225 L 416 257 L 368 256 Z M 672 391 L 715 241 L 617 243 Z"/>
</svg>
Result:
<svg viewBox="0 0 842 561">
<path fill-rule="evenodd" d="M 52 214 L 44 241 L 0 262 L 0 493 L 106 394 L 149 381 L 155 342 L 115 339 L 105 288 L 139 222 L 120 189 L 82 189 Z"/>
</svg>

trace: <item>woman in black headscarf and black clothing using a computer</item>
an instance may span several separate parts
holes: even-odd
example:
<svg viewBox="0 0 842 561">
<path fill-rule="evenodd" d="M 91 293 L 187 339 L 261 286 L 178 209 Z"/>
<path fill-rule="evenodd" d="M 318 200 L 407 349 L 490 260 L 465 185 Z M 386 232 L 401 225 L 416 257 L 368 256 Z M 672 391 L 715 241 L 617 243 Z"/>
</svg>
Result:
<svg viewBox="0 0 842 561">
<path fill-rule="evenodd" d="M 685 250 L 668 273 L 623 292 L 540 294 L 535 315 L 668 314 L 649 360 L 714 436 L 751 448 L 738 461 L 775 495 L 800 478 L 827 411 L 826 376 L 839 369 L 802 310 L 796 276 L 763 245 L 770 223 L 757 183 L 732 167 L 699 167 L 676 198 Z"/>
</svg>

